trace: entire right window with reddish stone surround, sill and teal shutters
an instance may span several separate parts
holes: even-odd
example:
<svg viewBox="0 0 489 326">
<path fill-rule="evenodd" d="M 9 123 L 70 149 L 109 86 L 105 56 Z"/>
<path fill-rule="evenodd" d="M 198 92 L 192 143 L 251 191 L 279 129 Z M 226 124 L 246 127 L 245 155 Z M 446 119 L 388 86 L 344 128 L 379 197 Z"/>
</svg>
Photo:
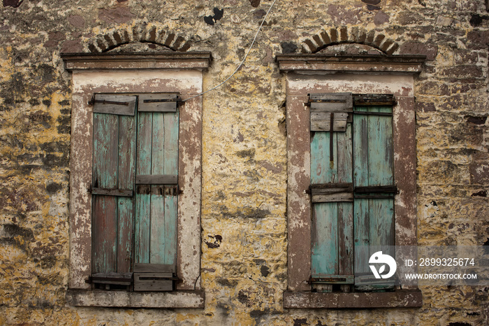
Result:
<svg viewBox="0 0 489 326">
<path fill-rule="evenodd" d="M 277 55 L 279 69 L 286 73 L 285 308 L 422 305 L 416 288 L 365 292 L 355 287 L 351 250 L 354 241 L 416 245 L 414 75 L 423 61 L 385 55 Z M 371 105 L 377 100 L 381 106 Z M 371 218 L 367 206 L 381 207 L 382 213 Z M 371 232 L 372 222 L 380 220 L 385 225 Z"/>
</svg>

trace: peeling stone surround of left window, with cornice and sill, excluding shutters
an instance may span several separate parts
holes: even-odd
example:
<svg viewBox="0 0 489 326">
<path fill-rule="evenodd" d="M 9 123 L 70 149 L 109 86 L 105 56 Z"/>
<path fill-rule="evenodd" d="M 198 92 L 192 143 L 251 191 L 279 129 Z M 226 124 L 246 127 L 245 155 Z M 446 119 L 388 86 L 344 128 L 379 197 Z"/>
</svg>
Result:
<svg viewBox="0 0 489 326">
<path fill-rule="evenodd" d="M 61 55 L 72 73 L 70 160 L 70 259 L 66 301 L 72 306 L 203 308 L 200 288 L 200 200 L 202 183 L 202 97 L 180 105 L 177 217 L 177 283 L 173 292 L 91 290 L 94 93 L 202 92 L 210 52 Z"/>
</svg>

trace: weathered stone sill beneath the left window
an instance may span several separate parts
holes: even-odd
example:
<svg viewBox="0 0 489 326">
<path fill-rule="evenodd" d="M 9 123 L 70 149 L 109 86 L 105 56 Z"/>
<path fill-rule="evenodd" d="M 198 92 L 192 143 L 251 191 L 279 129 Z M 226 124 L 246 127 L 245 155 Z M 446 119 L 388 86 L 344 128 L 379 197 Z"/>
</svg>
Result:
<svg viewBox="0 0 489 326">
<path fill-rule="evenodd" d="M 204 291 L 125 292 L 104 290 L 68 290 L 69 306 L 117 308 L 204 308 Z"/>
</svg>

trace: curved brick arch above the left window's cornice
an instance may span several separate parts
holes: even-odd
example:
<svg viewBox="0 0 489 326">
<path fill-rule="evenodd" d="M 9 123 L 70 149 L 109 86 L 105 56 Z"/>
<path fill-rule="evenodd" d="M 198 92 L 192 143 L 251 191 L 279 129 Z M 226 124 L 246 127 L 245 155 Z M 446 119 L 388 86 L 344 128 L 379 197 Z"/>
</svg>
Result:
<svg viewBox="0 0 489 326">
<path fill-rule="evenodd" d="M 101 53 L 129 43 L 153 43 L 169 50 L 184 52 L 191 44 L 186 38 L 165 27 L 139 24 L 133 27 L 110 29 L 87 43 L 88 52 Z"/>
</svg>

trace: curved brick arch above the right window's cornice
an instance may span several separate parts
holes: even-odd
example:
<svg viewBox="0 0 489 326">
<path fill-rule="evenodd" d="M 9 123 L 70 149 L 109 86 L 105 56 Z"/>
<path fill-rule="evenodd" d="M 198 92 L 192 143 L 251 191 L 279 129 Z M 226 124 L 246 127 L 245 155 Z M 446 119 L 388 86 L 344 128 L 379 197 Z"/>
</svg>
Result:
<svg viewBox="0 0 489 326">
<path fill-rule="evenodd" d="M 312 38 L 306 38 L 301 43 L 302 53 L 316 53 L 330 45 L 342 43 L 369 45 L 386 55 L 393 55 L 399 48 L 397 42 L 391 38 L 387 38 L 384 34 L 374 30 L 367 31 L 359 27 L 323 29 L 318 34 L 312 36 Z"/>
</svg>

